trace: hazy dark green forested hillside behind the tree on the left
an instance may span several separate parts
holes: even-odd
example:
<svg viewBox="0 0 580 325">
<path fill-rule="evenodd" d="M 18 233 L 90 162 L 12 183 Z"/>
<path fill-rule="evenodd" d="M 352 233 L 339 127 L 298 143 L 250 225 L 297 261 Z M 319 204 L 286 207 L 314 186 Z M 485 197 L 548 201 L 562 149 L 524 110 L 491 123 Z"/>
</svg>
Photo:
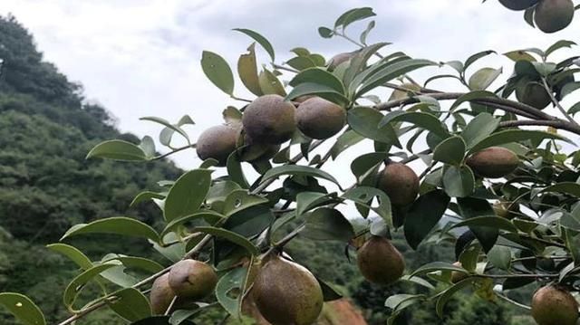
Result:
<svg viewBox="0 0 580 325">
<path fill-rule="evenodd" d="M 180 171 L 169 161 L 85 160 L 104 139 L 139 139 L 115 129 L 101 106 L 86 104 L 81 86 L 43 62 L 33 36 L 11 16 L 0 17 L 0 59 L 0 292 L 30 294 L 53 323 L 63 318 L 58 292 L 74 276 L 65 270 L 74 267 L 44 245 L 73 224 L 101 217 L 154 224 L 154 206 L 129 204 L 141 189 L 157 189 L 157 181 Z M 83 247 L 95 258 L 114 250 L 106 243 Z M 11 324 L 4 315 L 0 308 L 0 323 Z"/>
</svg>

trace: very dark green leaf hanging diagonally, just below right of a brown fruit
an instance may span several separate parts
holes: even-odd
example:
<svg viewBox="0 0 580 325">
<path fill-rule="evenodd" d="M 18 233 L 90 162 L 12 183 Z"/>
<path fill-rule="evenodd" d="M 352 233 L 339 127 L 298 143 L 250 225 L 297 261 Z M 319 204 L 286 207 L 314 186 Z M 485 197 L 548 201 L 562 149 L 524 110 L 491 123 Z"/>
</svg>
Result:
<svg viewBox="0 0 580 325">
<path fill-rule="evenodd" d="M 439 223 L 449 206 L 449 200 L 449 196 L 437 189 L 419 196 L 412 204 L 405 216 L 403 229 L 407 243 L 413 249 L 416 250 L 433 227 Z"/>
</svg>

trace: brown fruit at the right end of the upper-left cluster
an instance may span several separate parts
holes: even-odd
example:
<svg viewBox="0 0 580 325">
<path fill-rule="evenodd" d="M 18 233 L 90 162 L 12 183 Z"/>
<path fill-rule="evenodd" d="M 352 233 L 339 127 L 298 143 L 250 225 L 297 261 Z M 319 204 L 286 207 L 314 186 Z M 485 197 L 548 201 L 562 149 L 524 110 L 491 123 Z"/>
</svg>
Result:
<svg viewBox="0 0 580 325">
<path fill-rule="evenodd" d="M 346 110 L 320 97 L 305 100 L 296 110 L 298 129 L 312 139 L 328 139 L 343 129 Z"/>
</svg>

